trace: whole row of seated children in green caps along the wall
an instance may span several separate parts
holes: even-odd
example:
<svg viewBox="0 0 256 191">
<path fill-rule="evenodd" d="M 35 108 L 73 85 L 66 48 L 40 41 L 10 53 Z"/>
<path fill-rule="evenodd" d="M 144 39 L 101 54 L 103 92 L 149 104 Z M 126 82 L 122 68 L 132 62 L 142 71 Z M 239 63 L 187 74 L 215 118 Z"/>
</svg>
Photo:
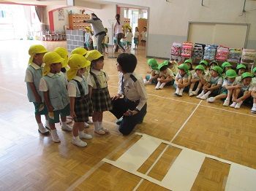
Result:
<svg viewBox="0 0 256 191">
<path fill-rule="evenodd" d="M 246 66 L 239 64 L 236 71 L 231 69 L 229 62 L 222 63 L 222 67 L 218 66 L 217 61 L 212 61 L 209 64 L 210 69 L 207 70 L 207 61 L 200 61 L 200 64 L 192 70 L 192 61 L 186 60 L 181 65 L 177 66 L 178 73 L 173 72 L 168 68 L 168 63 L 165 61 L 158 64 L 153 58 L 148 60 L 148 66 L 151 67 L 151 75 L 147 75 L 144 79 L 145 84 L 152 82 L 157 83 L 157 90 L 162 89 L 166 84 L 173 85 L 176 88 L 174 95 L 182 96 L 184 90 L 189 91 L 189 96 L 196 96 L 208 102 L 214 102 L 218 99 L 225 98 L 223 106 L 229 106 L 230 99 L 232 104 L 230 107 L 239 109 L 241 104 L 252 95 L 253 106 L 251 112 L 256 112 L 256 68 L 253 69 L 253 74 L 246 72 Z M 189 71 L 190 70 L 190 71 Z M 173 79 L 174 78 L 174 79 Z M 215 95 L 208 98 L 209 95 Z"/>
</svg>

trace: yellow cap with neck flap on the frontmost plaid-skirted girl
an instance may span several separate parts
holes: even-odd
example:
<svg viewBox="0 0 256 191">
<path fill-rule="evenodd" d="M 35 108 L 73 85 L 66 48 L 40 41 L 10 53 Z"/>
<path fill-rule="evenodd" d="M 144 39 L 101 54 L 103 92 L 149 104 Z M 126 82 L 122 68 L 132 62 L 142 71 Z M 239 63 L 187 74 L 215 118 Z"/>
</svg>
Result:
<svg viewBox="0 0 256 191">
<path fill-rule="evenodd" d="M 76 76 L 79 69 L 86 68 L 86 66 L 89 66 L 90 64 L 91 63 L 89 61 L 86 61 L 86 58 L 84 58 L 83 55 L 71 55 L 68 61 L 70 69 L 69 71 L 67 71 L 67 79 L 73 79 Z"/>
</svg>

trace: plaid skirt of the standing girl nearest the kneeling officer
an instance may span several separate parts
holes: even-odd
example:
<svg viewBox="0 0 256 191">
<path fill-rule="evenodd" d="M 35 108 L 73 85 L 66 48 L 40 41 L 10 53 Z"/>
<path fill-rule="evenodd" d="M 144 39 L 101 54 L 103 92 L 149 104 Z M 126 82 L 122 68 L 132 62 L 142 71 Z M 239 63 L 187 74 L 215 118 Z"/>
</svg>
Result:
<svg viewBox="0 0 256 191">
<path fill-rule="evenodd" d="M 92 89 L 91 100 L 95 112 L 105 112 L 113 108 L 108 87 Z"/>
</svg>

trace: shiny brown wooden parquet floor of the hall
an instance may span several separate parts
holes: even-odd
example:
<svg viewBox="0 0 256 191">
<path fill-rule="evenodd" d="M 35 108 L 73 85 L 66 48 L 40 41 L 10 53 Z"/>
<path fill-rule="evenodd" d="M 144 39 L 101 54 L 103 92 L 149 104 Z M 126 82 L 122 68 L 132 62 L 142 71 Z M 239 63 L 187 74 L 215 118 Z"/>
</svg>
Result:
<svg viewBox="0 0 256 191">
<path fill-rule="evenodd" d="M 167 190 L 102 161 L 118 160 L 141 139 L 137 133 L 256 168 L 256 115 L 250 112 L 251 106 L 232 109 L 222 106 L 222 101 L 210 104 L 187 93 L 178 98 L 173 95 L 174 87 L 155 90 L 154 85 L 146 86 L 148 113 L 129 136 L 122 136 L 115 117 L 105 112 L 103 125 L 110 133 L 99 136 L 90 125 L 85 130 L 93 139 L 87 147 L 72 145 L 72 133 L 59 125 L 61 143 L 53 143 L 51 136 L 37 132 L 34 106 L 26 97 L 24 77 L 31 44 L 43 44 L 48 50 L 67 47 L 66 42 L 1 42 L 0 190 Z M 136 72 L 145 76 L 149 70 L 145 50 L 131 52 L 138 58 Z M 118 91 L 115 64 L 116 58 L 105 55 L 110 95 Z M 160 144 L 138 172 L 161 181 L 181 152 L 166 145 Z M 225 190 L 229 172 L 230 164 L 206 158 L 191 190 Z"/>
</svg>

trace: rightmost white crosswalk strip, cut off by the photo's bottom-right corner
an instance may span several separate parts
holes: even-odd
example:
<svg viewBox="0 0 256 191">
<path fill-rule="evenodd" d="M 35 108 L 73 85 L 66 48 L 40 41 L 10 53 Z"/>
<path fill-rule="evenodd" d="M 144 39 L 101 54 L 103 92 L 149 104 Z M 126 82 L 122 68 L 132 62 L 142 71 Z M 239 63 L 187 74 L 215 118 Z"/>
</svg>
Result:
<svg viewBox="0 0 256 191">
<path fill-rule="evenodd" d="M 225 187 L 227 191 L 233 190 L 256 190 L 256 170 L 231 163 L 230 172 L 227 176 L 227 184 Z"/>
</svg>

